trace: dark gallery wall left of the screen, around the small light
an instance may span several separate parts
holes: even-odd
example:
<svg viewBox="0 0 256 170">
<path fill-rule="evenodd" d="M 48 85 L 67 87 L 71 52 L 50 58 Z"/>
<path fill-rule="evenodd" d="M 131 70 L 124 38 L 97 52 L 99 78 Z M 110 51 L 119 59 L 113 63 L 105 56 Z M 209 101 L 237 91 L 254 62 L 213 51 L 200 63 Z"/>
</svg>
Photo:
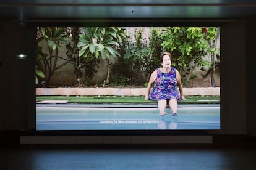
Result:
<svg viewBox="0 0 256 170">
<path fill-rule="evenodd" d="M 29 121 L 35 113 L 35 34 L 19 23 L 5 23 L 1 30 L 1 130 L 25 131 L 35 126 Z M 17 54 L 28 57 L 19 59 Z"/>
</svg>

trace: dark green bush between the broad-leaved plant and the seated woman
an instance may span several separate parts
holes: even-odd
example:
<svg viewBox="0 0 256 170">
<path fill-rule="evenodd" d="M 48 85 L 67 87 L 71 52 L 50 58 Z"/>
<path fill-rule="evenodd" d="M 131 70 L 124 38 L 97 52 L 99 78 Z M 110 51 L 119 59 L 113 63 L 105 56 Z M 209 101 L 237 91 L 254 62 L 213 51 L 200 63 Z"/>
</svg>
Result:
<svg viewBox="0 0 256 170">
<path fill-rule="evenodd" d="M 142 30 L 135 31 L 132 37 L 127 38 L 121 49 L 121 56 L 111 65 L 111 82 L 133 85 L 145 83 L 152 50 L 148 41 L 143 39 Z"/>
</svg>

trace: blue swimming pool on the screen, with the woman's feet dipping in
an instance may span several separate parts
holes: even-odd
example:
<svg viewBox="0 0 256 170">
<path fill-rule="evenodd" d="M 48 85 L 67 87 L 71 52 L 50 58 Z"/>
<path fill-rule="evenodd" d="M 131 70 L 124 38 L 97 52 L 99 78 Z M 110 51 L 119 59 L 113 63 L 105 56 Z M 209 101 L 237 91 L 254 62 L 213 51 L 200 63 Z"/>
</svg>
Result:
<svg viewBox="0 0 256 170">
<path fill-rule="evenodd" d="M 220 105 L 178 107 L 160 116 L 157 107 L 36 105 L 36 130 L 220 129 Z"/>
</svg>

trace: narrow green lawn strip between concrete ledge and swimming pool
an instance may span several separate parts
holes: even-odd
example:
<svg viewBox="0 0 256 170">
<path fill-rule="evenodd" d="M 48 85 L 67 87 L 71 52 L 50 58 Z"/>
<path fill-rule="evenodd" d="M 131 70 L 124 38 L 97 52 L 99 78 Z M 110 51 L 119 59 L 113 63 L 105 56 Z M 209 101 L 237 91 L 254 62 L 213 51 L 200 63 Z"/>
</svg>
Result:
<svg viewBox="0 0 256 170">
<path fill-rule="evenodd" d="M 186 104 L 219 104 L 220 96 L 186 96 Z M 156 103 L 144 100 L 144 96 L 36 96 L 36 102 L 43 100 L 67 100 L 68 103 Z"/>
</svg>

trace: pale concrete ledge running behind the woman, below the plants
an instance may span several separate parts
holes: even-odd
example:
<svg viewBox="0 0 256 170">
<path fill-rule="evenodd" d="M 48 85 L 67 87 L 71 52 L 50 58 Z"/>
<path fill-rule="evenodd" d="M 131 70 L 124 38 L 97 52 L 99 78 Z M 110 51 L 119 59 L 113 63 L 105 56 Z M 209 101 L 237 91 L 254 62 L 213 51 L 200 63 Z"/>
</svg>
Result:
<svg viewBox="0 0 256 170">
<path fill-rule="evenodd" d="M 220 95 L 220 87 L 184 88 L 184 95 Z M 37 88 L 36 95 L 117 95 L 117 96 L 142 96 L 146 88 Z"/>
</svg>

